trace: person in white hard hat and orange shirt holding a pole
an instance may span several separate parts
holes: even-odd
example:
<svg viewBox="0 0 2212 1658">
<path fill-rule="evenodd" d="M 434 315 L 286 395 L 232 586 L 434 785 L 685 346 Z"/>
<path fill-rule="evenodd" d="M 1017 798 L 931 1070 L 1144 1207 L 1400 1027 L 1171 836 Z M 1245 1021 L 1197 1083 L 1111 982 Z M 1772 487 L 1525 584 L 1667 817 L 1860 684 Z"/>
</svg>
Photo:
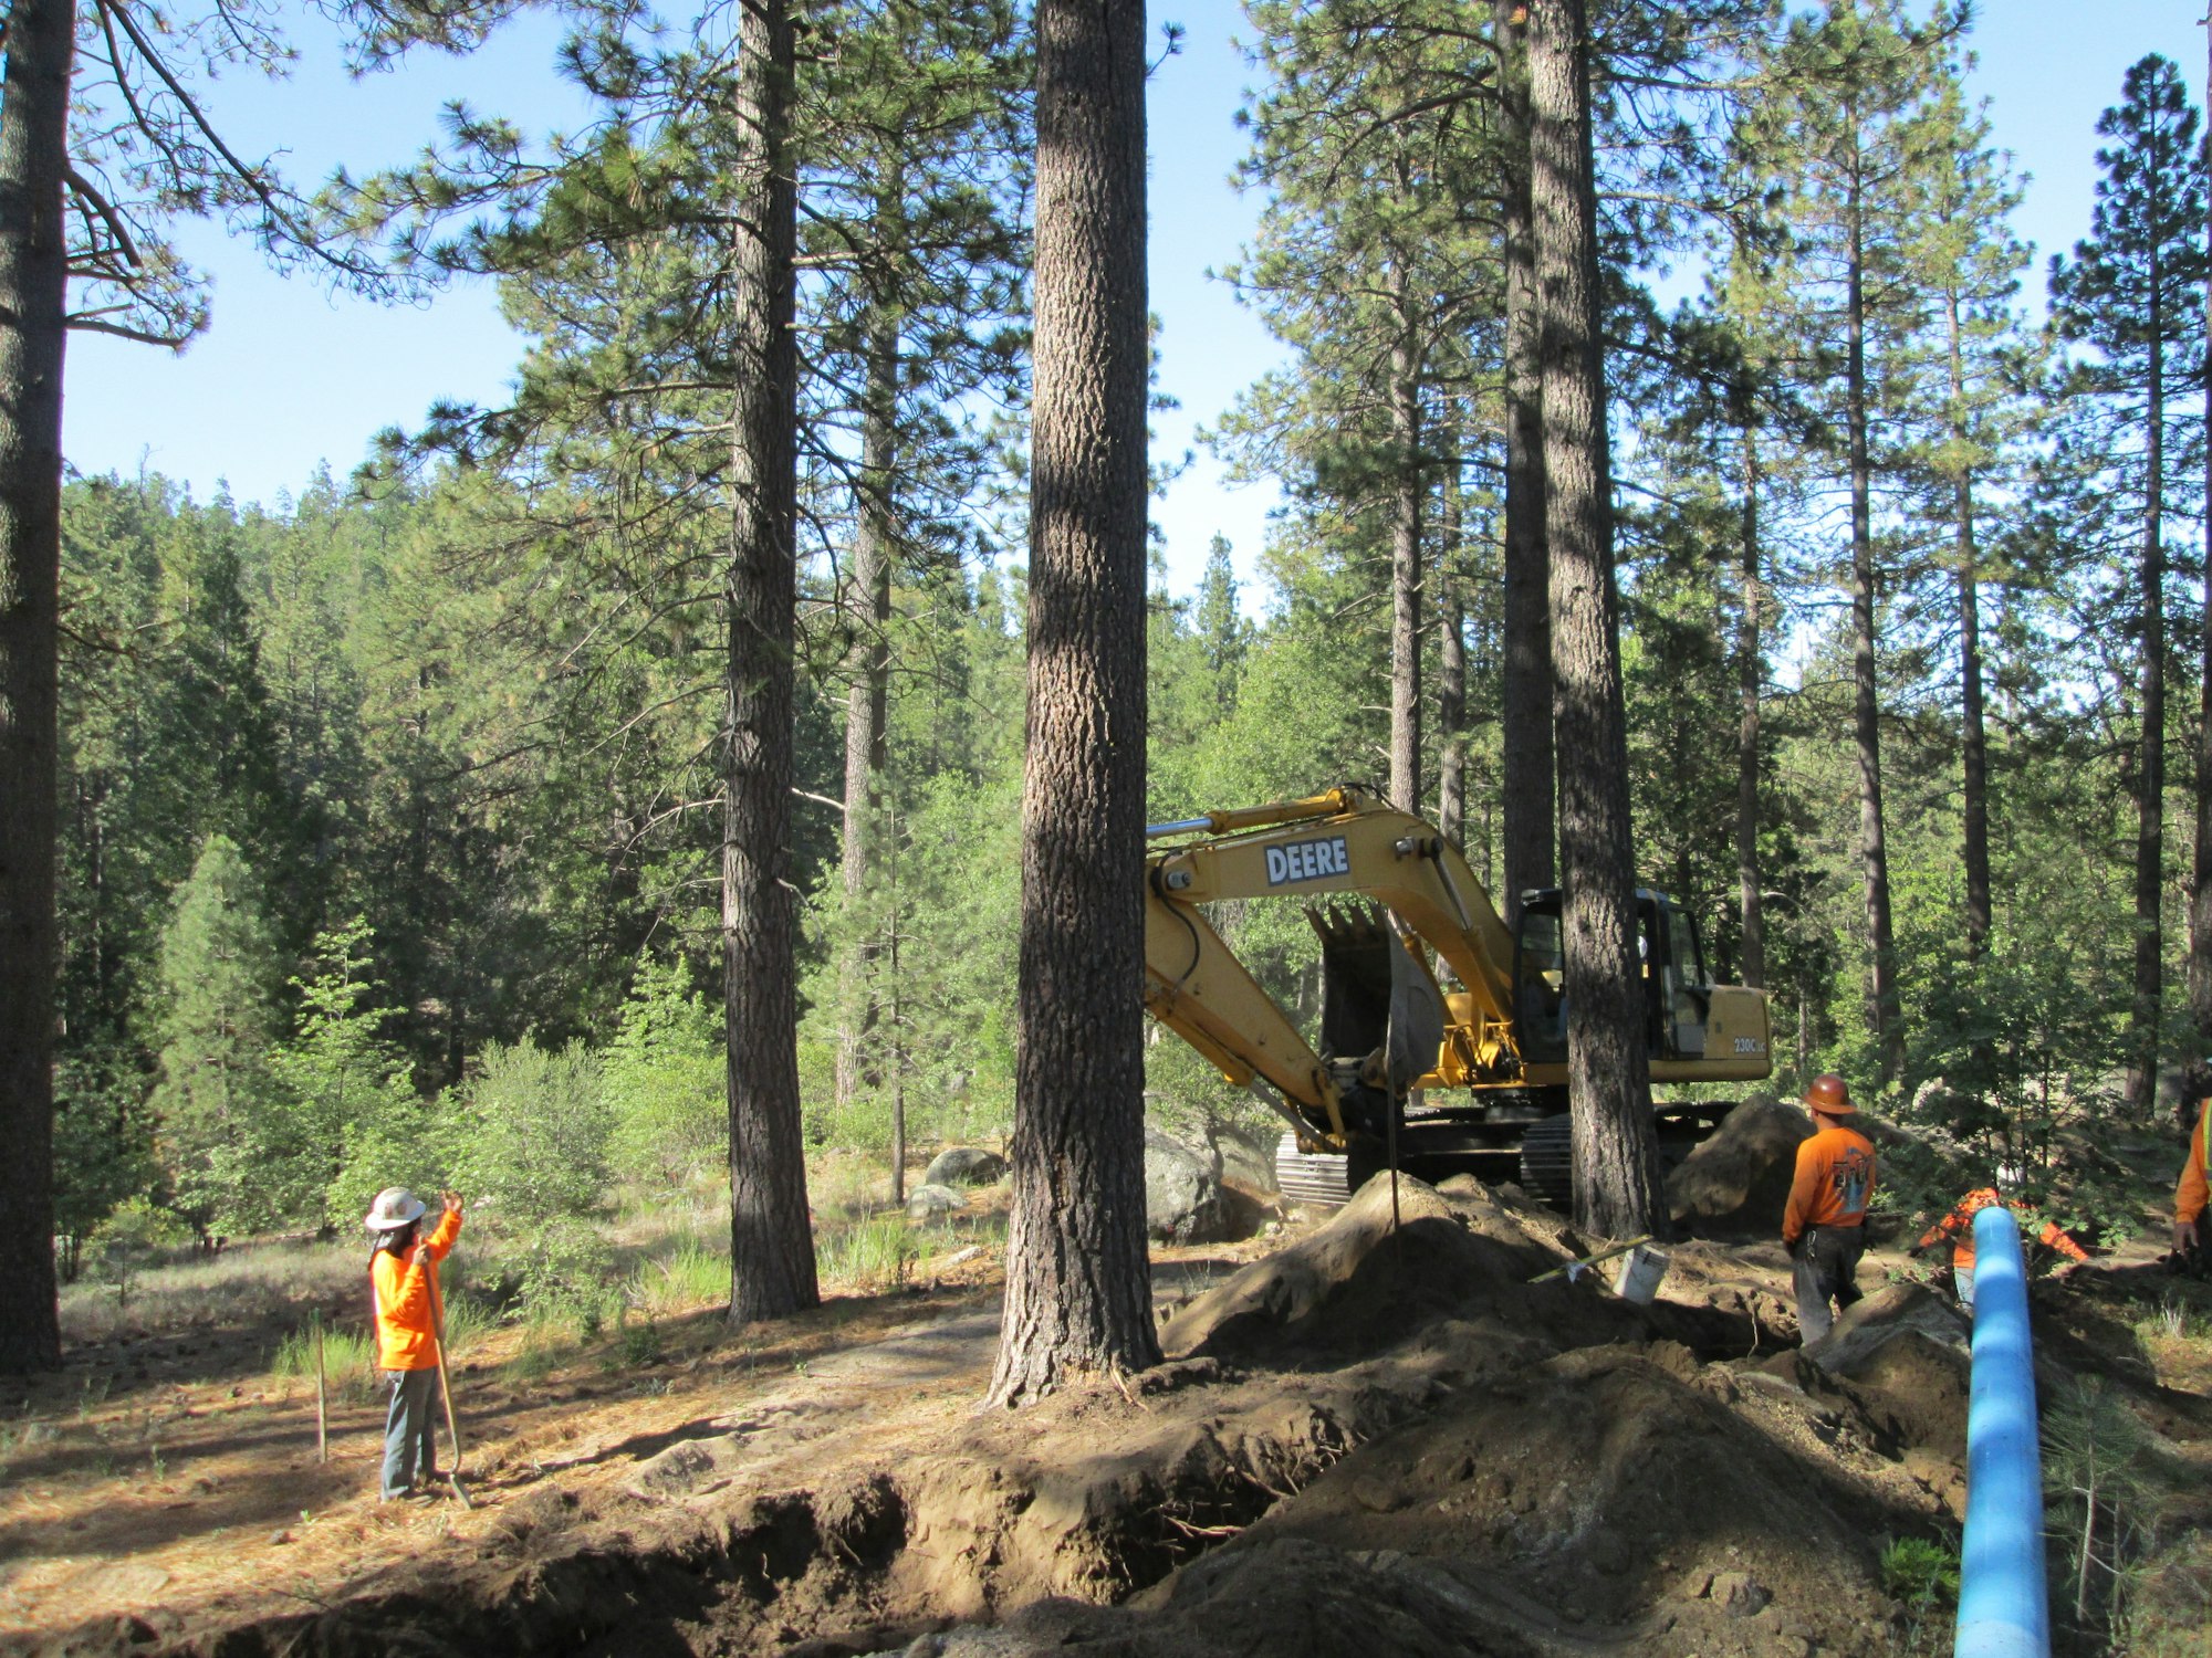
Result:
<svg viewBox="0 0 2212 1658">
<path fill-rule="evenodd" d="M 376 1313 L 376 1368 L 392 1384 L 392 1406 L 385 1410 L 387 1503 L 416 1490 L 434 1490 L 438 1481 L 438 1444 L 431 1426 L 445 1331 L 438 1262 L 460 1236 L 460 1194 L 445 1194 L 445 1214 L 427 1238 L 425 1214 L 427 1205 L 414 1192 L 387 1187 L 376 1194 L 365 1220 L 374 1234 L 369 1304 Z"/>
</svg>

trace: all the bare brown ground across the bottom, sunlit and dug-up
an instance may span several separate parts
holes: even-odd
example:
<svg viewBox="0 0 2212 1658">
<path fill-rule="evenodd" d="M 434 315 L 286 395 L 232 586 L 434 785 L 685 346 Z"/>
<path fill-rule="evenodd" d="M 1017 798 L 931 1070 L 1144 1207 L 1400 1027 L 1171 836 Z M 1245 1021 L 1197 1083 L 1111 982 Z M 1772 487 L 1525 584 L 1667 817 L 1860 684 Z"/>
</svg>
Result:
<svg viewBox="0 0 2212 1658">
<path fill-rule="evenodd" d="M 0 1651 L 1905 1649 L 1878 1561 L 1955 1541 L 1955 1311 L 1876 1253 L 1816 1362 L 1778 1245 L 1681 1245 L 1641 1309 L 1531 1282 L 1579 1253 L 1462 1180 L 1402 1183 L 1391 1227 L 1378 1180 L 1161 1251 L 1170 1362 L 1020 1415 L 975 1408 L 989 1253 L 739 1337 L 701 1309 L 630 1366 L 522 1384 L 493 1344 L 456 1377 L 471 1510 L 374 1503 L 372 1408 L 316 1463 L 312 1391 L 250 1368 L 268 1331 L 84 1353 L 4 1463 Z M 2106 1377 L 2203 1492 L 2203 1344 L 2139 1333 L 2174 1298 L 2212 1311 L 2148 1251 L 2039 1282 L 2042 1386 Z"/>
</svg>

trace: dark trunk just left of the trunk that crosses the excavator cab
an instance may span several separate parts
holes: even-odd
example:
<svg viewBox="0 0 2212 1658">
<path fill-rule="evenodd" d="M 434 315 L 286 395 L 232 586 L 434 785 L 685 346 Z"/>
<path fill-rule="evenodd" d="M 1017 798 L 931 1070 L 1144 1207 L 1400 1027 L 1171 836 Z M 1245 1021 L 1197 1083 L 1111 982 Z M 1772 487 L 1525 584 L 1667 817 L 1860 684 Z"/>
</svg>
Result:
<svg viewBox="0 0 2212 1658">
<path fill-rule="evenodd" d="M 1500 809 L 1506 926 L 1520 895 L 1553 884 L 1551 559 L 1544 550 L 1544 380 L 1528 208 L 1528 42 L 1524 0 L 1495 0 L 1498 135 L 1504 157 L 1504 685 Z"/>
</svg>

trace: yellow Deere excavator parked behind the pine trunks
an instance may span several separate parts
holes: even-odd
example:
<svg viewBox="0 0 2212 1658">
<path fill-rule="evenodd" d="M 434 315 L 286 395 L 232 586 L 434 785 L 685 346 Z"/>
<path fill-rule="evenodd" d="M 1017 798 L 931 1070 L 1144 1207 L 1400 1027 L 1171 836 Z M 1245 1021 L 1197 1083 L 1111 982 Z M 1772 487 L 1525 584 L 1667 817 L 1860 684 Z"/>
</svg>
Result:
<svg viewBox="0 0 2212 1658">
<path fill-rule="evenodd" d="M 1349 785 L 1148 825 L 1146 840 L 1146 1008 L 1290 1123 L 1285 1196 L 1345 1203 L 1396 1158 L 1429 1180 L 1517 1178 L 1568 1203 L 1557 889 L 1524 893 L 1509 931 L 1451 840 Z M 1252 898 L 1349 900 L 1305 906 L 1321 937 L 1316 1041 L 1203 909 Z M 1652 1081 L 1767 1077 L 1765 993 L 1712 984 L 1694 917 L 1666 893 L 1635 900 Z M 1686 1156 L 1732 1105 L 1659 1108 L 1661 1154 Z"/>
</svg>

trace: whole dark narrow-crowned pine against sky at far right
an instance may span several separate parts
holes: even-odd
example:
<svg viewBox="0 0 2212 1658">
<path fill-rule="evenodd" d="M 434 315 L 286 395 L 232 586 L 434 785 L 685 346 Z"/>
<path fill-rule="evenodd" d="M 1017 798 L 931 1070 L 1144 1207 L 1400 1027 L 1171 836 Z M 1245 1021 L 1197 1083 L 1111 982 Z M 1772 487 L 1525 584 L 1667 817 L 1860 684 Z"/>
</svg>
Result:
<svg viewBox="0 0 2212 1658">
<path fill-rule="evenodd" d="M 2128 1012 L 2126 1099 L 2143 1105 L 2157 1077 L 2166 898 L 2166 520 L 2172 407 L 2203 374 L 2205 170 L 2197 111 L 2181 73 L 2152 53 L 2097 119 L 2104 177 L 2090 237 L 2051 259 L 2051 321 L 2088 345 L 2079 385 L 2106 411 L 2115 486 L 2132 504 L 2135 634 L 2141 732 L 2132 774 L 2135 995 Z"/>
</svg>

